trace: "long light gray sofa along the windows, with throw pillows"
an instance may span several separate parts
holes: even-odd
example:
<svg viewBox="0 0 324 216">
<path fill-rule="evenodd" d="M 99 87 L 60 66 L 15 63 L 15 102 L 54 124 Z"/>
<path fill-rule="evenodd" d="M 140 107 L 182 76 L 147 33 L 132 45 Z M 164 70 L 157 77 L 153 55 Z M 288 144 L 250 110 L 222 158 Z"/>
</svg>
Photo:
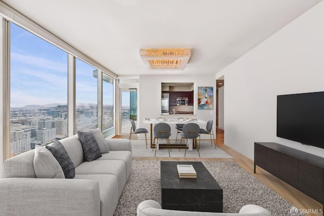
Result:
<svg viewBox="0 0 324 216">
<path fill-rule="evenodd" d="M 131 173 L 132 147 L 128 139 L 104 141 L 109 153 L 88 162 L 77 135 L 60 140 L 74 164 L 73 178 L 62 178 L 61 170 L 54 171 L 53 178 L 36 177 L 53 174 L 45 163 L 34 169 L 34 163 L 39 164 L 34 161 L 38 147 L 6 160 L 0 179 L 0 215 L 113 215 Z"/>
</svg>

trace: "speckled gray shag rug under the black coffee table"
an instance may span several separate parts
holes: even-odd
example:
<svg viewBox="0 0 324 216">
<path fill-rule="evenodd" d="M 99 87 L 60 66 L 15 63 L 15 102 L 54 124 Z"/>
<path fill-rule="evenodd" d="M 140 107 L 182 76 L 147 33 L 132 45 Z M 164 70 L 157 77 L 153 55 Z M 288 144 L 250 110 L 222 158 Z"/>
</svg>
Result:
<svg viewBox="0 0 324 216">
<path fill-rule="evenodd" d="M 247 204 L 260 205 L 275 215 L 304 215 L 235 162 L 203 161 L 223 188 L 223 212 L 237 213 Z M 161 204 L 160 161 L 133 160 L 132 172 L 120 196 L 115 216 L 136 215 L 137 205 L 148 199 Z"/>
</svg>

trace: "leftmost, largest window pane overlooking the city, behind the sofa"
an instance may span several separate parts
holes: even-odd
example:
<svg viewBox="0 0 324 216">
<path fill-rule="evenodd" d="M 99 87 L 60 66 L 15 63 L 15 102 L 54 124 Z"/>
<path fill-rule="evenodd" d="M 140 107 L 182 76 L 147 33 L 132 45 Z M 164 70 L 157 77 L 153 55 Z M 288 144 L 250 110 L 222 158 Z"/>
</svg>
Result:
<svg viewBox="0 0 324 216">
<path fill-rule="evenodd" d="M 67 53 L 10 23 L 10 156 L 67 136 Z"/>
</svg>

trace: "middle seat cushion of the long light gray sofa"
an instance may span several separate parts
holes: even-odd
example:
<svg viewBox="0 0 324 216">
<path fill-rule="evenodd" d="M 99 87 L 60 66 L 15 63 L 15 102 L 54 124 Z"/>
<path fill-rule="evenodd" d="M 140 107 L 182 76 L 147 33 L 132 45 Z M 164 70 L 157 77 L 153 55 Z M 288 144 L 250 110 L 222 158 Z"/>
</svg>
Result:
<svg viewBox="0 0 324 216">
<path fill-rule="evenodd" d="M 110 153 L 108 153 L 110 154 Z M 118 179 L 118 195 L 123 192 L 127 181 L 126 164 L 121 160 L 94 160 L 85 161 L 75 167 L 75 174 L 111 174 Z"/>
</svg>

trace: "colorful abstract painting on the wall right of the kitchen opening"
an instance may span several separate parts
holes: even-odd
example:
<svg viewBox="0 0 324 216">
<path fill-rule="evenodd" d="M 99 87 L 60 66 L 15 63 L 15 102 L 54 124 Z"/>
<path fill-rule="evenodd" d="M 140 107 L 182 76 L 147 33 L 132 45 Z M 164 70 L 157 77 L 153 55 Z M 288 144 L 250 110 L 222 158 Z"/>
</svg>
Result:
<svg viewBox="0 0 324 216">
<path fill-rule="evenodd" d="M 214 109 L 214 87 L 198 87 L 198 110 Z"/>
</svg>

